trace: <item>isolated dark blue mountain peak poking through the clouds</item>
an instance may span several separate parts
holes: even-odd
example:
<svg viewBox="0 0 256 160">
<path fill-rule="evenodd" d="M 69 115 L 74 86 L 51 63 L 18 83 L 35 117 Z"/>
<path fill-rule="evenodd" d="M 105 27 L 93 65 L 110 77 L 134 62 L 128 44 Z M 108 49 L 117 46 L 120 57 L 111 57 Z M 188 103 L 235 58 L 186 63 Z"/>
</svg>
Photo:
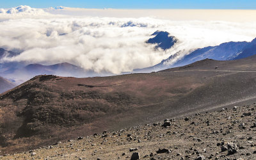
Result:
<svg viewBox="0 0 256 160">
<path fill-rule="evenodd" d="M 156 35 L 156 36 L 154 36 Z M 170 49 L 178 41 L 175 36 L 170 36 L 170 33 L 167 31 L 155 31 L 147 43 L 148 44 L 157 44 L 156 49 L 161 48 L 163 50 Z"/>
</svg>

